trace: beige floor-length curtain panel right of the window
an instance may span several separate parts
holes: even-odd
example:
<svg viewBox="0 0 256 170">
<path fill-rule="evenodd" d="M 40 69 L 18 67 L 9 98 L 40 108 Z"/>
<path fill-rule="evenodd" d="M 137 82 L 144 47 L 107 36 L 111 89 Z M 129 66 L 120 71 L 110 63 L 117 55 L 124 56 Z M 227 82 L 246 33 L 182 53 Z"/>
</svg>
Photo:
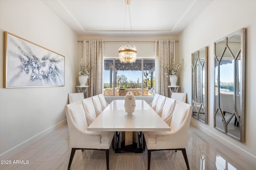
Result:
<svg viewBox="0 0 256 170">
<path fill-rule="evenodd" d="M 166 77 L 164 73 L 168 73 L 168 70 L 163 65 L 169 65 L 172 68 L 172 61 L 175 60 L 175 40 L 159 40 L 156 41 L 156 93 L 170 97 L 170 90 L 167 86 L 170 86 L 169 77 Z"/>
</svg>

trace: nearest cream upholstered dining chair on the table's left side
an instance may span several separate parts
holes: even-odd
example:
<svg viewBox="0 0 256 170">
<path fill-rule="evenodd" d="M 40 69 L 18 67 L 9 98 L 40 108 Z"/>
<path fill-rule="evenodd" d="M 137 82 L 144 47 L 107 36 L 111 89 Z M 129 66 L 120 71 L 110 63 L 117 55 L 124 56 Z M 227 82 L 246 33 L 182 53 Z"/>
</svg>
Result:
<svg viewBox="0 0 256 170">
<path fill-rule="evenodd" d="M 87 121 L 82 101 L 65 106 L 68 130 L 71 141 L 71 154 L 68 170 L 72 164 L 76 150 L 102 150 L 106 152 L 106 164 L 109 169 L 109 149 L 114 146 L 114 132 L 87 131 Z M 114 147 L 113 147 L 114 149 Z"/>
</svg>

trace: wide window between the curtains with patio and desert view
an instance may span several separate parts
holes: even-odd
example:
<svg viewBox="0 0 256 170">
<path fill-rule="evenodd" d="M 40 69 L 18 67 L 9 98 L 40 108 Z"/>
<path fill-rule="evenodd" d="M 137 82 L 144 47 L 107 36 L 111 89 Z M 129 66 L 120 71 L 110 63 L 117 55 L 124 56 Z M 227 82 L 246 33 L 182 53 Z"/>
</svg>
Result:
<svg viewBox="0 0 256 170">
<path fill-rule="evenodd" d="M 104 60 L 104 95 L 134 96 L 154 95 L 155 60 L 136 59 L 135 63 L 120 63 L 119 59 Z"/>
</svg>

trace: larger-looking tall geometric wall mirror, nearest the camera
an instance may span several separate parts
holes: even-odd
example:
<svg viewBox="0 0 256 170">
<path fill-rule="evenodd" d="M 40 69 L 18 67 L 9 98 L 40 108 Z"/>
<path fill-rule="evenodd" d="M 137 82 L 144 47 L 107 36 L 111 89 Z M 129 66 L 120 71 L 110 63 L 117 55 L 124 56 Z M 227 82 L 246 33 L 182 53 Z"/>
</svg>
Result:
<svg viewBox="0 0 256 170">
<path fill-rule="evenodd" d="M 245 142 L 246 29 L 214 42 L 214 128 Z"/>
</svg>

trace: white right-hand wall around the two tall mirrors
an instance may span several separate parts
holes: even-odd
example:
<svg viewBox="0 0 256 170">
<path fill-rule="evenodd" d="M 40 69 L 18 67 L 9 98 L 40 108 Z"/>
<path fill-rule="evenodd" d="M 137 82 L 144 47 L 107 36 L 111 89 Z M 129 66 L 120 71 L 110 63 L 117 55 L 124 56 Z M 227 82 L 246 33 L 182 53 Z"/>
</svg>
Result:
<svg viewBox="0 0 256 170">
<path fill-rule="evenodd" d="M 246 28 L 246 142 L 228 137 L 214 129 L 214 41 Z M 179 57 L 184 58 L 180 85 L 191 104 L 191 53 L 208 46 L 209 124 L 192 118 L 192 123 L 248 160 L 256 163 L 256 1 L 213 1 L 179 36 Z"/>
</svg>

